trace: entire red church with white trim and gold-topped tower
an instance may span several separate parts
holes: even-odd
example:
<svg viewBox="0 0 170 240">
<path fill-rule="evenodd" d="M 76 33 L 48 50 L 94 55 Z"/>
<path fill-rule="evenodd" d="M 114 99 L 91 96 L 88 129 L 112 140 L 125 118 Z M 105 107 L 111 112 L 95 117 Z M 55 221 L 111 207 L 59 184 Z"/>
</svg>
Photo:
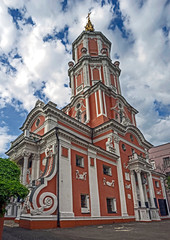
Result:
<svg viewBox="0 0 170 240">
<path fill-rule="evenodd" d="M 154 170 L 136 126 L 138 111 L 122 96 L 111 42 L 88 16 L 68 63 L 70 103 L 38 100 L 7 155 L 30 193 L 18 202 L 20 227 L 43 229 L 169 217 L 164 175 Z M 7 210 L 10 215 L 10 208 Z"/>
</svg>

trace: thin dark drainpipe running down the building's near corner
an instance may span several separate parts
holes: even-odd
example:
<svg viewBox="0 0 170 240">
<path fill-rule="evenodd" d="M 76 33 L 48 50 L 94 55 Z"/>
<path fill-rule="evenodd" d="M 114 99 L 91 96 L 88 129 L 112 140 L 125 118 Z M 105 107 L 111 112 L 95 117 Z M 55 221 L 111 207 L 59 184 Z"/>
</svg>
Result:
<svg viewBox="0 0 170 240">
<path fill-rule="evenodd" d="M 59 154 L 60 154 L 60 140 L 58 137 L 58 128 L 56 127 L 56 139 L 57 139 L 57 200 L 58 200 L 58 208 L 57 208 L 57 227 L 60 227 L 60 208 L 59 208 Z"/>
</svg>

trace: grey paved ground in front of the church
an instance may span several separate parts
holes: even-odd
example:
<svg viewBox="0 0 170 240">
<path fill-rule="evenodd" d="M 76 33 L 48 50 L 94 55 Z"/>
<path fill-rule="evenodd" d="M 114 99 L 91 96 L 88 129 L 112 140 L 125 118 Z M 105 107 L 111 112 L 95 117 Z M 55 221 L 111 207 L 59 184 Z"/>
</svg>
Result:
<svg viewBox="0 0 170 240">
<path fill-rule="evenodd" d="M 170 220 L 65 229 L 27 230 L 5 221 L 2 240 L 170 240 Z"/>
</svg>

